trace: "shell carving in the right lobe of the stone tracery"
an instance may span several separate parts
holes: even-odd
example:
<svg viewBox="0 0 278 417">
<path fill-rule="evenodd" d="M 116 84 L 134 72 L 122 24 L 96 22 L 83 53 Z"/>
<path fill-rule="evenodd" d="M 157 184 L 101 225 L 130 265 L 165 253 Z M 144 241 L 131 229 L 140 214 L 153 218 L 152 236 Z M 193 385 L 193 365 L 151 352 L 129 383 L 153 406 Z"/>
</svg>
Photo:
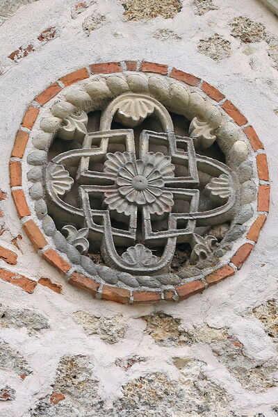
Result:
<svg viewBox="0 0 278 417">
<path fill-rule="evenodd" d="M 205 193 L 216 203 L 222 204 L 227 201 L 232 193 L 231 178 L 227 174 L 221 174 L 218 178 L 212 178 L 211 182 L 206 184 Z"/>
</svg>

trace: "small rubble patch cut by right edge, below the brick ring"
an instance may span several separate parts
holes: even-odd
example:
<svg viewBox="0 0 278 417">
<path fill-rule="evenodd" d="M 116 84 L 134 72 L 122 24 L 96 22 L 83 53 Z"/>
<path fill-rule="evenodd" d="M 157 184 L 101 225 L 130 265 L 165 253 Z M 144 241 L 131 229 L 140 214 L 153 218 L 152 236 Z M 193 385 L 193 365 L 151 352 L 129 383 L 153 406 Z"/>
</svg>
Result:
<svg viewBox="0 0 278 417">
<path fill-rule="evenodd" d="M 253 314 L 262 322 L 272 341 L 278 343 L 278 301 L 268 300 L 253 309 Z"/>
</svg>

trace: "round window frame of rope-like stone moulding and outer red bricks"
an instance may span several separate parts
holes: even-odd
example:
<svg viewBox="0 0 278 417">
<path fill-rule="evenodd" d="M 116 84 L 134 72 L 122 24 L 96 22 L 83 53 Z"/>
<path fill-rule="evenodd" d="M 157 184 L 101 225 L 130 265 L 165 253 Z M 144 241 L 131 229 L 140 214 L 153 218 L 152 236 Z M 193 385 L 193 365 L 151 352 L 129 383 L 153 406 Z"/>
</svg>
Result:
<svg viewBox="0 0 278 417">
<path fill-rule="evenodd" d="M 44 168 L 56 132 L 60 129 L 65 138 L 79 132 L 82 136 L 85 113 L 99 108 L 107 97 L 115 99 L 128 92 L 154 97 L 170 111 L 187 117 L 196 140 L 206 147 L 206 141 L 214 138 L 227 165 L 236 172 L 231 249 L 222 253 L 216 265 L 208 265 L 192 277 L 169 273 L 140 277 L 138 282 L 127 272 L 96 265 L 60 234 L 47 214 Z M 234 104 L 192 74 L 137 61 L 90 65 L 61 77 L 35 97 L 17 131 L 10 158 L 10 186 L 22 227 L 35 250 L 70 284 L 122 304 L 184 300 L 234 275 L 258 240 L 270 195 L 263 145 Z"/>
</svg>

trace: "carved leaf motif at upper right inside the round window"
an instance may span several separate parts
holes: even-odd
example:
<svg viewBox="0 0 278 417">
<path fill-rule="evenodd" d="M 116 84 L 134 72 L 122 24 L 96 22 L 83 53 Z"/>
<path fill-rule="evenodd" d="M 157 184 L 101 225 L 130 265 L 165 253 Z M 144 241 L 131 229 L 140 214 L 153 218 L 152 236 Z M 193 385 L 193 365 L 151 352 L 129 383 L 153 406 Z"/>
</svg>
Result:
<svg viewBox="0 0 278 417">
<path fill-rule="evenodd" d="M 213 134 L 215 128 L 208 122 L 201 122 L 197 117 L 194 117 L 189 126 L 190 138 L 193 138 L 196 148 L 206 149 L 211 147 L 216 140 Z"/>
</svg>

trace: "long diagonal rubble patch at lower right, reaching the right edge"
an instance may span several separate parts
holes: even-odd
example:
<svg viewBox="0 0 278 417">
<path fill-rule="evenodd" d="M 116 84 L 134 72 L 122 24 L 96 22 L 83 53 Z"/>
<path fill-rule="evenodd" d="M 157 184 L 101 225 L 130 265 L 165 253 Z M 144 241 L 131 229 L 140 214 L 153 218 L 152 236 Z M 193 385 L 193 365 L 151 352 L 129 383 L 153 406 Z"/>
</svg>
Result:
<svg viewBox="0 0 278 417">
<path fill-rule="evenodd" d="M 277 359 L 266 362 L 250 359 L 243 352 L 243 345 L 230 336 L 226 328 L 214 329 L 208 325 L 188 331 L 188 343 L 206 343 L 229 373 L 248 391 L 264 392 L 277 386 Z"/>
</svg>

